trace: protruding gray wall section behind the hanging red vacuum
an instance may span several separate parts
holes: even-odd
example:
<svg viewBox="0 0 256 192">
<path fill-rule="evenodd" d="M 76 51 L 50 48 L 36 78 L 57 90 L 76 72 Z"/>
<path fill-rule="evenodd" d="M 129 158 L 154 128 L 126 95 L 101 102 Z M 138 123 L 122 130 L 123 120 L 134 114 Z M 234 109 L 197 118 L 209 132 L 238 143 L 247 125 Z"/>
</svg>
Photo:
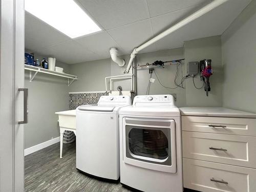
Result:
<svg viewBox="0 0 256 192">
<path fill-rule="evenodd" d="M 222 106 L 222 61 L 221 61 L 221 36 L 213 36 L 196 40 L 185 41 L 185 62 L 211 59 L 214 74 L 210 76 L 209 96 L 206 97 L 204 88 L 198 90 L 194 87 L 193 79 L 186 80 L 186 105 L 187 106 Z M 195 77 L 198 88 L 202 86 L 200 74 Z"/>
</svg>

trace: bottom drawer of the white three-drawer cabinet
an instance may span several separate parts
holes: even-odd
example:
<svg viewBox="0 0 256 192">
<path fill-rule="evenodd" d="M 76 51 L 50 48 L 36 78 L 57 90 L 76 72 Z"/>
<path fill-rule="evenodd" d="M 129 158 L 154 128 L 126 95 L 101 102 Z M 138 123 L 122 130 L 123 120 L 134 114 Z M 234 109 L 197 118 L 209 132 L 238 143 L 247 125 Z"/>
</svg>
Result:
<svg viewBox="0 0 256 192">
<path fill-rule="evenodd" d="M 183 185 L 204 192 L 256 191 L 256 169 L 183 158 Z"/>
</svg>

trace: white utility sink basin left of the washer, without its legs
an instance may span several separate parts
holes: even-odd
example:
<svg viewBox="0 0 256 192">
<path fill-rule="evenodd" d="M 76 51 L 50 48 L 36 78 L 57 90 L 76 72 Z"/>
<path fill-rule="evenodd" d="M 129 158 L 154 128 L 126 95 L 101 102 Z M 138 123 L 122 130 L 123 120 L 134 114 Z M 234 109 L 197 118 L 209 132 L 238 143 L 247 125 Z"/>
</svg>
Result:
<svg viewBox="0 0 256 192">
<path fill-rule="evenodd" d="M 68 129 L 76 129 L 76 110 L 60 111 L 55 114 L 59 115 L 59 126 Z"/>
</svg>

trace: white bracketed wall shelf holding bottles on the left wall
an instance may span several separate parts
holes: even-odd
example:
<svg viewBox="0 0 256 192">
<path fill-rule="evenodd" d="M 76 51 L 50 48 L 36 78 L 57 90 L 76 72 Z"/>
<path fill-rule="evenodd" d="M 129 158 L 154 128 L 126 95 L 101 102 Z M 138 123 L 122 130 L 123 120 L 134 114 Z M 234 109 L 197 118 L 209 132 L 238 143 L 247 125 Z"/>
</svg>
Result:
<svg viewBox="0 0 256 192">
<path fill-rule="evenodd" d="M 44 68 L 39 68 L 39 67 L 34 67 L 34 66 L 29 66 L 29 65 L 25 65 L 25 70 L 29 70 L 29 81 L 30 82 L 32 82 L 32 80 L 35 78 L 37 73 L 46 73 L 49 75 L 55 75 L 55 76 L 59 76 L 59 77 L 68 78 L 68 86 L 70 86 L 71 83 L 74 82 L 74 80 L 78 79 L 76 75 L 60 73 L 60 72 L 56 72 L 56 71 L 51 71 L 49 69 L 44 69 Z M 32 75 L 32 71 L 35 72 L 33 75 Z"/>
</svg>

